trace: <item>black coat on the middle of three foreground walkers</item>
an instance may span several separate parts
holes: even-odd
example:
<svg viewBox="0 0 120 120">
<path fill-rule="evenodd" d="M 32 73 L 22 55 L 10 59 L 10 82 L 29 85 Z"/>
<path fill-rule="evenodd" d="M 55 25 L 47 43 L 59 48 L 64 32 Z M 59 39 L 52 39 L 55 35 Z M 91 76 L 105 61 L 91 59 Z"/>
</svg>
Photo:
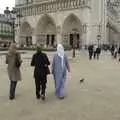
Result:
<svg viewBox="0 0 120 120">
<path fill-rule="evenodd" d="M 34 77 L 40 78 L 47 75 L 48 65 L 50 65 L 50 62 L 46 54 L 42 52 L 35 53 L 31 61 L 31 66 L 35 66 Z"/>
</svg>

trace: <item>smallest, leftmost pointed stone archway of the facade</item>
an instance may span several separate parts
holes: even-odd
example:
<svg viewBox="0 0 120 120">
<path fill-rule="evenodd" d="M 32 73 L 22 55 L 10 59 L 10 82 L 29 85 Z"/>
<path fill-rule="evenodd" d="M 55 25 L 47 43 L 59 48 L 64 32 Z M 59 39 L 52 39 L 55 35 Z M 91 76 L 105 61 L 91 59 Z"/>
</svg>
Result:
<svg viewBox="0 0 120 120">
<path fill-rule="evenodd" d="M 28 22 L 24 22 L 20 28 L 21 47 L 30 47 L 32 45 L 32 28 Z"/>
</svg>

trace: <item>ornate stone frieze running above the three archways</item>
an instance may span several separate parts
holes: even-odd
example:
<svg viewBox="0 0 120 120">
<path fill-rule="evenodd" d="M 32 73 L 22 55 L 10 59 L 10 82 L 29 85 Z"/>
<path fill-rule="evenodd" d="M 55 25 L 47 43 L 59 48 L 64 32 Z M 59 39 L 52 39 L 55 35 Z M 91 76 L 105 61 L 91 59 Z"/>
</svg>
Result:
<svg viewBox="0 0 120 120">
<path fill-rule="evenodd" d="M 54 0 L 39 4 L 16 5 L 16 8 L 23 16 L 32 16 L 83 7 L 90 8 L 90 1 L 91 0 Z"/>
</svg>

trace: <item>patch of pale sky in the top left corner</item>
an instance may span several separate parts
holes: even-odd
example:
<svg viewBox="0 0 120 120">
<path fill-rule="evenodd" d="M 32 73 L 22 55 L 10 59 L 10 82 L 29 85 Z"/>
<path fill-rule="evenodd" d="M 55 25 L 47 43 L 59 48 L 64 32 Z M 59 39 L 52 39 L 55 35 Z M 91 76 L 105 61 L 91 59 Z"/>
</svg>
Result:
<svg viewBox="0 0 120 120">
<path fill-rule="evenodd" d="M 11 9 L 14 5 L 15 0 L 0 0 L 0 13 L 3 13 L 7 6 Z"/>
</svg>

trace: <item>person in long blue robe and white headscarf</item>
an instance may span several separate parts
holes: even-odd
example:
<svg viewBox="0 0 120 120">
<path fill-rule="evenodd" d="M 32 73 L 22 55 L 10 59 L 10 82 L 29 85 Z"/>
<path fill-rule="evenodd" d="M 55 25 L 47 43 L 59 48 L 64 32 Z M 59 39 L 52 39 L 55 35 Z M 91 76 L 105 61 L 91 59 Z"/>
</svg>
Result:
<svg viewBox="0 0 120 120">
<path fill-rule="evenodd" d="M 62 44 L 58 44 L 57 54 L 54 55 L 52 62 L 52 74 L 55 81 L 55 94 L 60 99 L 65 97 L 67 70 L 70 72 L 68 58 L 64 53 Z"/>
</svg>

